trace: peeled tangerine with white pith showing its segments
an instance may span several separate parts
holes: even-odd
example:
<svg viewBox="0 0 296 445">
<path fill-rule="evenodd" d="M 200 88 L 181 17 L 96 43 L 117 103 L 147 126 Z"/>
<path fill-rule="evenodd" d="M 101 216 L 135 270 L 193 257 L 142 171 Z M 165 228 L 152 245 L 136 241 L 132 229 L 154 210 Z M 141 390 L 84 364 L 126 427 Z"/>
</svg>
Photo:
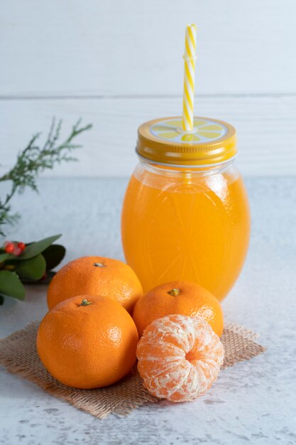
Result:
<svg viewBox="0 0 296 445">
<path fill-rule="evenodd" d="M 212 386 L 223 363 L 224 348 L 202 318 L 168 315 L 146 328 L 137 358 L 138 371 L 152 395 L 186 402 Z"/>
</svg>

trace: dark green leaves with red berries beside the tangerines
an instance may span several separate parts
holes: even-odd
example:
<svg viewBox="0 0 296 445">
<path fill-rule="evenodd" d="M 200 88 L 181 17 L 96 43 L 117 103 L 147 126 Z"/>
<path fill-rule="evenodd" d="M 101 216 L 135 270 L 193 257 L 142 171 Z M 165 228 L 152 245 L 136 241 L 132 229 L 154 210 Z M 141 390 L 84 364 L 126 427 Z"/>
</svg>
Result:
<svg viewBox="0 0 296 445">
<path fill-rule="evenodd" d="M 65 256 L 65 247 L 53 244 L 60 236 L 31 242 L 18 256 L 0 248 L 0 306 L 5 296 L 23 300 L 26 293 L 23 283 L 50 282 L 55 274 L 51 269 Z"/>
</svg>

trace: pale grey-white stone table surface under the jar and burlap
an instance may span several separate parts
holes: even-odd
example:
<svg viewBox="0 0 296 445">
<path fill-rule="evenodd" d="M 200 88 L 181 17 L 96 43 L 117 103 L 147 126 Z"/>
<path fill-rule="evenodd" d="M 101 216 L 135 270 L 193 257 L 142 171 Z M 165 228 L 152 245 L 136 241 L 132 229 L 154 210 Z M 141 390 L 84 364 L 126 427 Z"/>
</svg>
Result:
<svg viewBox="0 0 296 445">
<path fill-rule="evenodd" d="M 7 237 L 63 234 L 67 262 L 85 254 L 124 259 L 120 209 L 126 179 L 40 180 L 40 194 L 14 200 L 21 223 Z M 147 404 L 98 420 L 0 369 L 0 443 L 296 444 L 296 178 L 246 178 L 251 245 L 241 277 L 223 301 L 227 321 L 260 334 L 268 349 L 223 370 L 207 394 L 184 404 Z M 17 234 L 17 235 L 16 235 Z M 0 307 L 0 338 L 40 319 L 46 286 Z"/>
</svg>

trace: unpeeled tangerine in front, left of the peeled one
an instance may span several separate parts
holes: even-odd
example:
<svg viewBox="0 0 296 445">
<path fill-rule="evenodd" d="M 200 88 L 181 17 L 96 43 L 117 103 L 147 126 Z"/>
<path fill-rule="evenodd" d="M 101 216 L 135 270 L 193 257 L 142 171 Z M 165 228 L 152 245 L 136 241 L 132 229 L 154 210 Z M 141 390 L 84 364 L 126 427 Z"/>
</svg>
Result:
<svg viewBox="0 0 296 445">
<path fill-rule="evenodd" d="M 43 318 L 36 340 L 45 368 L 64 385 L 111 385 L 136 362 L 138 332 L 129 313 L 106 296 L 74 296 Z"/>
</svg>

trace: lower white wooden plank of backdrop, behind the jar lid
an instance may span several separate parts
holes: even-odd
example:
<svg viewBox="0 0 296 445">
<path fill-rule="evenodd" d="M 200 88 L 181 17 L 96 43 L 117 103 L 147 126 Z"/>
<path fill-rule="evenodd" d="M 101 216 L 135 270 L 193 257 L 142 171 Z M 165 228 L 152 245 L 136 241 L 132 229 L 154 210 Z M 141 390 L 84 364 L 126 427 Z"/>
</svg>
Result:
<svg viewBox="0 0 296 445">
<path fill-rule="evenodd" d="M 47 132 L 55 115 L 64 119 L 65 135 L 79 117 L 92 122 L 94 128 L 80 137 L 84 144 L 77 151 L 80 162 L 59 166 L 48 176 L 128 176 L 137 161 L 138 125 L 180 114 L 181 104 L 181 97 L 1 101 L 1 171 L 11 167 L 33 133 Z M 296 96 L 199 98 L 197 110 L 201 116 L 234 124 L 239 137 L 238 163 L 244 174 L 296 173 Z"/>
</svg>

